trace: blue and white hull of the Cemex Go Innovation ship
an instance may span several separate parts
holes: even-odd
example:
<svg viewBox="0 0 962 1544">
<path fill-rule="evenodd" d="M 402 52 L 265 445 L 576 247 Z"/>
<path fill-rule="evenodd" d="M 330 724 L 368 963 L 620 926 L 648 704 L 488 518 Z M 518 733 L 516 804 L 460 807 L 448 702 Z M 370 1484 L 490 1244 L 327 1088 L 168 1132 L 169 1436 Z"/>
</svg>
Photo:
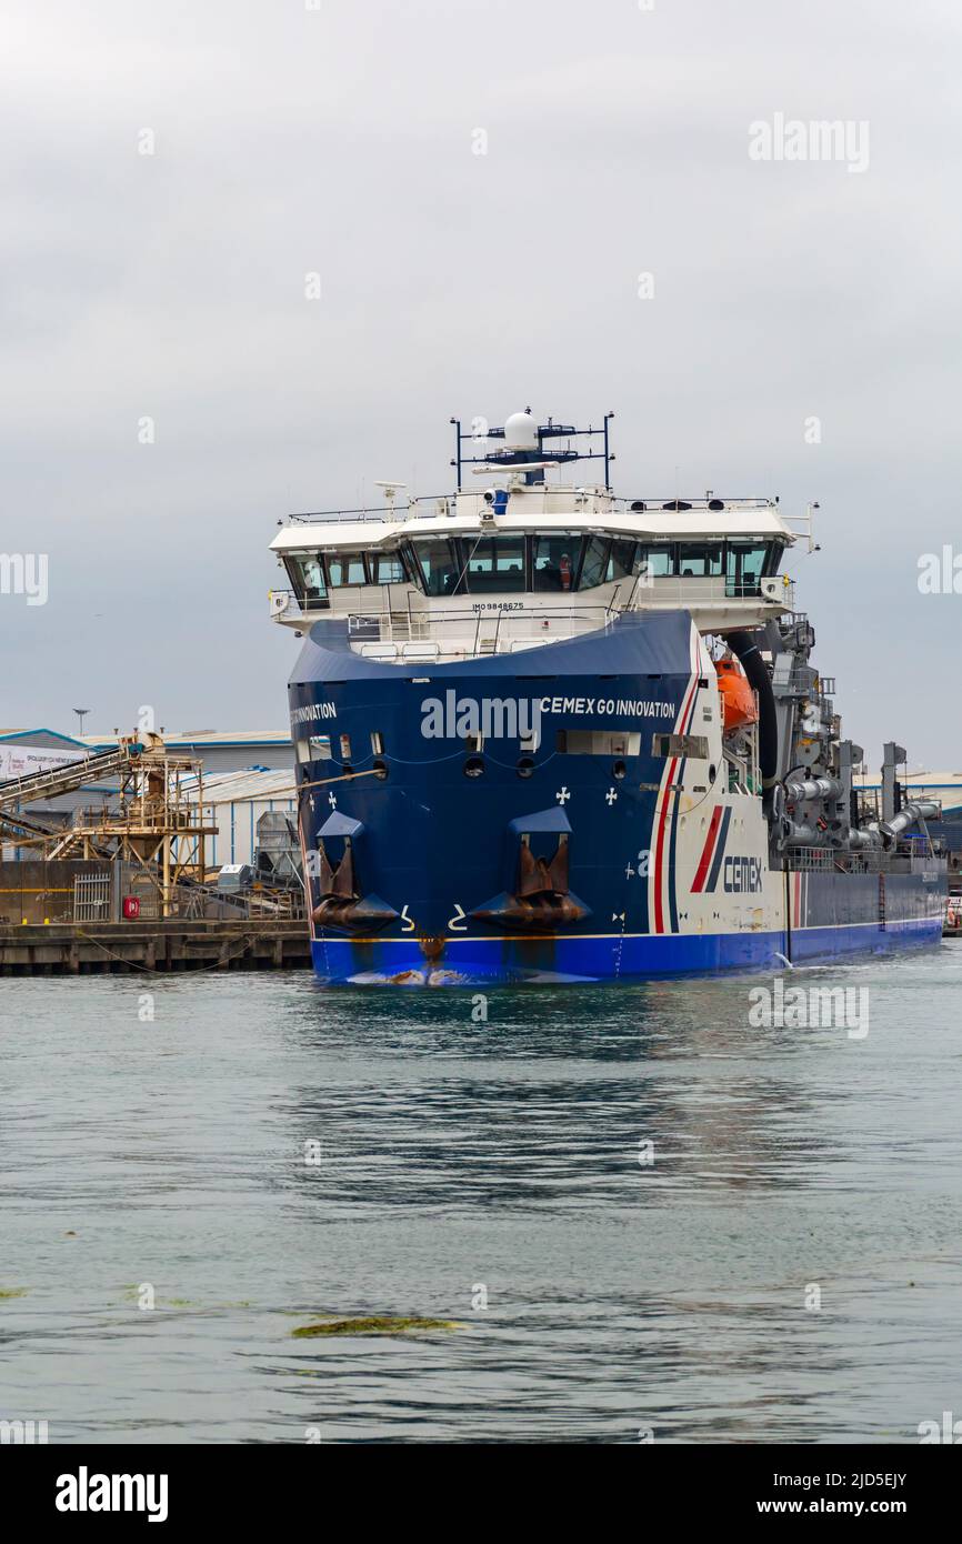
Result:
<svg viewBox="0 0 962 1544">
<path fill-rule="evenodd" d="M 457 664 L 374 662 L 344 624 L 315 624 L 290 710 L 318 977 L 638 979 L 936 943 L 943 875 L 880 894 L 876 874 L 771 871 L 718 769 L 709 786 L 656 753 L 709 716 L 701 669 L 684 611 Z M 468 701 L 537 704 L 540 744 L 519 729 L 473 755 Z M 591 735 L 615 750 L 585 752 Z"/>
</svg>

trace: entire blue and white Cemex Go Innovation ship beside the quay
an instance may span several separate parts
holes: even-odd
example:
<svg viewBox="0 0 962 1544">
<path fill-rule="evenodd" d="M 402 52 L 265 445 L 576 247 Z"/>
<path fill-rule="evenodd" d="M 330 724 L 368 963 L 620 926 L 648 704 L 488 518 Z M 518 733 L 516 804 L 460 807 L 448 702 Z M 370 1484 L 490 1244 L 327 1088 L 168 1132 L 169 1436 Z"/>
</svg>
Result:
<svg viewBox="0 0 962 1544">
<path fill-rule="evenodd" d="M 292 516 L 312 954 L 330 984 L 772 968 L 939 939 L 931 801 L 854 784 L 778 500 L 622 499 L 601 429 L 463 434 L 457 488 Z M 604 463 L 604 482 L 564 482 Z M 479 477 L 477 488 L 465 486 Z M 798 523 L 798 522 L 795 522 Z"/>
</svg>

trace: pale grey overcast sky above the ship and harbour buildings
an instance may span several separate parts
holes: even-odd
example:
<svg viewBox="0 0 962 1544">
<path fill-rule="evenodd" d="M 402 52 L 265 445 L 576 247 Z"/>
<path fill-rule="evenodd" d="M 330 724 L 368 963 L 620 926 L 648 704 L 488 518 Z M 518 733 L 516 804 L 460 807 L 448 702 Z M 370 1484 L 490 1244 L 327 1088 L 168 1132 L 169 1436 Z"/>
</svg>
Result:
<svg viewBox="0 0 962 1544">
<path fill-rule="evenodd" d="M 962 769 L 957 0 L 312 3 L 3 6 L 0 550 L 49 598 L 0 594 L 0 726 L 284 727 L 278 517 L 530 403 L 613 408 L 619 493 L 817 499 L 846 732 Z M 750 159 L 780 113 L 868 167 Z"/>
</svg>

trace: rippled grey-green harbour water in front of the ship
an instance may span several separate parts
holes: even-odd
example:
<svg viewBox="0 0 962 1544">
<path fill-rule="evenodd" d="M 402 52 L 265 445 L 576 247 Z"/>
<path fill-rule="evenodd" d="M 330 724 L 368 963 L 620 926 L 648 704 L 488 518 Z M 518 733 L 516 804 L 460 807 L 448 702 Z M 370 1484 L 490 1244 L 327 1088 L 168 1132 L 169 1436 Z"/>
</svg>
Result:
<svg viewBox="0 0 962 1544">
<path fill-rule="evenodd" d="M 962 946 L 786 977 L 865 988 L 866 1034 L 754 1027 L 760 980 L 486 1021 L 307 971 L 2 982 L 0 1419 L 917 1442 L 962 1416 Z M 292 1334 L 326 1315 L 456 1328 Z"/>
</svg>

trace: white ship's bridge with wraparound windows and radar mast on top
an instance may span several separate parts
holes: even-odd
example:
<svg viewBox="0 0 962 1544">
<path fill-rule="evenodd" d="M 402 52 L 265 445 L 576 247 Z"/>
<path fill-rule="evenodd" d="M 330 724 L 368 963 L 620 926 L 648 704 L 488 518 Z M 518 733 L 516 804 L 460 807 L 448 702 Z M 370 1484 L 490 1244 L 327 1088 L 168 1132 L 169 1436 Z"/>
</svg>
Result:
<svg viewBox="0 0 962 1544">
<path fill-rule="evenodd" d="M 386 483 L 380 508 L 289 516 L 272 542 L 287 576 L 273 619 L 303 633 L 343 616 L 358 653 L 403 664 L 523 652 L 624 611 L 687 610 L 721 633 L 794 610 L 778 500 L 616 497 L 608 420 L 582 431 L 514 414 L 480 445 L 452 420 L 451 494 L 401 503 Z M 584 460 L 604 460 L 604 483 L 561 480 Z"/>
</svg>

